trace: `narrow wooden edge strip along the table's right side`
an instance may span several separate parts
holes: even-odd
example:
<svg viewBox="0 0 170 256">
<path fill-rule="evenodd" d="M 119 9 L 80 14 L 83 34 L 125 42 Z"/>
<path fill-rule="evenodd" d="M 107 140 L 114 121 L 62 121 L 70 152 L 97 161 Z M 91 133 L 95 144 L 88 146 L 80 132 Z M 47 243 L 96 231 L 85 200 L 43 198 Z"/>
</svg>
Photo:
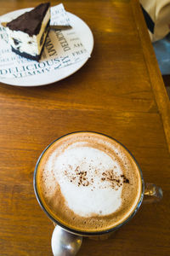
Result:
<svg viewBox="0 0 170 256">
<path fill-rule="evenodd" d="M 156 60 L 156 54 L 150 41 L 149 33 L 147 33 L 147 26 L 142 10 L 140 9 L 139 1 L 131 0 L 131 6 L 137 31 L 139 32 L 139 38 L 142 43 L 141 46 L 144 53 L 144 61 L 150 77 L 151 90 L 153 91 L 157 108 L 161 115 L 162 125 L 167 139 L 167 148 L 170 153 L 170 101 Z"/>
</svg>

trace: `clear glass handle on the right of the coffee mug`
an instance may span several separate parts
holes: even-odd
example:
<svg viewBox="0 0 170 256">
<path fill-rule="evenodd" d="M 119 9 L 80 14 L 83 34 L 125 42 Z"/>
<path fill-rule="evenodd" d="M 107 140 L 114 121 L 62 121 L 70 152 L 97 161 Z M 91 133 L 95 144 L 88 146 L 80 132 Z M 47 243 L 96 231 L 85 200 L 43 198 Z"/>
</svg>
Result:
<svg viewBox="0 0 170 256">
<path fill-rule="evenodd" d="M 143 203 L 152 203 L 161 201 L 163 197 L 163 191 L 160 187 L 153 183 L 144 184 L 144 201 Z"/>
</svg>

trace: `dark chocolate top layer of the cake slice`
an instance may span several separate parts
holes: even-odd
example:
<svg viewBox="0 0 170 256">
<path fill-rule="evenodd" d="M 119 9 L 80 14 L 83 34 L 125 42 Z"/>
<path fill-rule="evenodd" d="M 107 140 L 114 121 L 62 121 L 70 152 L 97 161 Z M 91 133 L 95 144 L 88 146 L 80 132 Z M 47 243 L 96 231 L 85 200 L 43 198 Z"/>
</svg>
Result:
<svg viewBox="0 0 170 256">
<path fill-rule="evenodd" d="M 41 3 L 30 12 L 20 15 L 18 18 L 7 23 L 10 30 L 26 32 L 29 36 L 37 35 L 42 26 L 42 20 L 50 3 Z"/>
</svg>

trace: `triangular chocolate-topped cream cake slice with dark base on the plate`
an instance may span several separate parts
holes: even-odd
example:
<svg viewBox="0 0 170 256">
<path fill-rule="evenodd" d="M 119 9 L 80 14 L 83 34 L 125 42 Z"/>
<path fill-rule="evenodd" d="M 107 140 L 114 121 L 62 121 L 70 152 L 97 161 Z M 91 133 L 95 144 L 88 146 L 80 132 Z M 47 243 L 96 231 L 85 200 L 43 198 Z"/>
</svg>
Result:
<svg viewBox="0 0 170 256">
<path fill-rule="evenodd" d="M 28 59 L 39 61 L 48 35 L 50 3 L 41 3 L 30 12 L 6 24 L 12 50 Z"/>
</svg>

